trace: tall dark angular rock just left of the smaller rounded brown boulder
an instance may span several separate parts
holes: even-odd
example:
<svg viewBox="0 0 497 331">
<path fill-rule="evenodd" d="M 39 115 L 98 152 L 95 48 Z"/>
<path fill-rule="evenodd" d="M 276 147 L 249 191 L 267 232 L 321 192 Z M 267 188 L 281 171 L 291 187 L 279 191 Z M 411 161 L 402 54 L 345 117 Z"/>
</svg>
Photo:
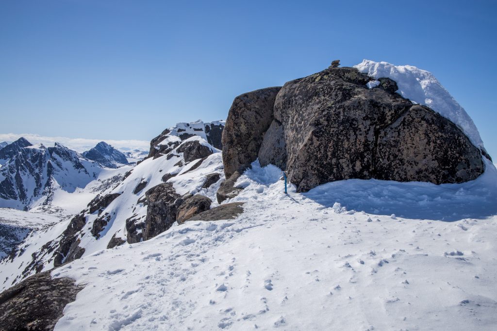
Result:
<svg viewBox="0 0 497 331">
<path fill-rule="evenodd" d="M 143 240 L 149 240 L 171 227 L 176 221 L 177 208 L 183 200 L 170 183 L 154 186 L 145 193 L 145 196 L 149 204 Z"/>
</svg>

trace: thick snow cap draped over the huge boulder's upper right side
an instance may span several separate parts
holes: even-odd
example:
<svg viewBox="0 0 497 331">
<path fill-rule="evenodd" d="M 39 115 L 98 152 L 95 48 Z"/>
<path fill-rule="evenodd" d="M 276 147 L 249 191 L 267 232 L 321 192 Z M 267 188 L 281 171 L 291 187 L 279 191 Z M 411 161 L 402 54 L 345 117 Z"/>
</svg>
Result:
<svg viewBox="0 0 497 331">
<path fill-rule="evenodd" d="M 483 147 L 480 132 L 463 107 L 440 84 L 433 74 L 415 66 L 394 66 L 386 62 L 363 60 L 354 66 L 374 78 L 388 77 L 397 82 L 397 91 L 403 97 L 428 106 L 455 123 L 473 142 Z"/>
</svg>

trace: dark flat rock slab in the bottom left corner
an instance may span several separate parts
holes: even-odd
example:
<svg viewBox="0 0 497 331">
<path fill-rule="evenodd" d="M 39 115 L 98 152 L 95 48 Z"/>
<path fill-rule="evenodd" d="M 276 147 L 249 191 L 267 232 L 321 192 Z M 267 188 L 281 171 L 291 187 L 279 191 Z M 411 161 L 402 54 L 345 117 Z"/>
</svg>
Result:
<svg viewBox="0 0 497 331">
<path fill-rule="evenodd" d="M 1 330 L 53 330 L 66 305 L 83 289 L 50 271 L 30 276 L 0 294 Z"/>
</svg>

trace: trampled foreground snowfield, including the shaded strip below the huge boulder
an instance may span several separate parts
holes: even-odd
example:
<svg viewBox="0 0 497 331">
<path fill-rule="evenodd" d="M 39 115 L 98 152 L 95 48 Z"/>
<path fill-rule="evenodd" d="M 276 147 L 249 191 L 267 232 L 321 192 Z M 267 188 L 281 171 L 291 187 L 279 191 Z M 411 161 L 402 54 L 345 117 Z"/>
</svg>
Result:
<svg viewBox="0 0 497 331">
<path fill-rule="evenodd" d="M 254 162 L 236 219 L 53 270 L 85 286 L 55 329 L 497 328 L 494 167 L 464 184 L 347 180 L 288 195 L 280 176 Z"/>
</svg>

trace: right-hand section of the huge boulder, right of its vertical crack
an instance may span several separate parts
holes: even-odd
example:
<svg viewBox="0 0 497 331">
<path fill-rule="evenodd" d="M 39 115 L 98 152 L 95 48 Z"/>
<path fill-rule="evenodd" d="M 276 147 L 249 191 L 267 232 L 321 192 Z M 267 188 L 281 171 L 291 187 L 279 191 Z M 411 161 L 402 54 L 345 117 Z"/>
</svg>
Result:
<svg viewBox="0 0 497 331">
<path fill-rule="evenodd" d="M 413 106 L 379 132 L 373 176 L 378 179 L 462 183 L 483 172 L 478 148 L 455 124 Z"/>
</svg>

